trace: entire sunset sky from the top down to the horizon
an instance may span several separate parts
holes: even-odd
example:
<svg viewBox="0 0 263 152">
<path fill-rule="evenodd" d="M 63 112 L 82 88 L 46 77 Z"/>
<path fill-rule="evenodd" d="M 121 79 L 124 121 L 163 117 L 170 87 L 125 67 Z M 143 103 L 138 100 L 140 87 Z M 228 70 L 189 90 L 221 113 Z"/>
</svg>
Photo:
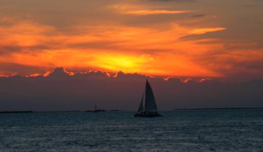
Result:
<svg viewBox="0 0 263 152">
<path fill-rule="evenodd" d="M 0 0 L 0 111 L 263 107 L 262 0 Z"/>
</svg>

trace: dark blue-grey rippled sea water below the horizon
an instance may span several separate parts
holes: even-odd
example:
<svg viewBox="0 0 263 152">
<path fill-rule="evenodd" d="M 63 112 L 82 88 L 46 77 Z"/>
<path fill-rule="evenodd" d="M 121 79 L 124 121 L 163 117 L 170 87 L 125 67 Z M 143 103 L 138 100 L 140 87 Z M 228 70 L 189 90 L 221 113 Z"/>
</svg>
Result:
<svg viewBox="0 0 263 152">
<path fill-rule="evenodd" d="M 0 151 L 263 151 L 263 110 L 0 114 Z"/>
</svg>

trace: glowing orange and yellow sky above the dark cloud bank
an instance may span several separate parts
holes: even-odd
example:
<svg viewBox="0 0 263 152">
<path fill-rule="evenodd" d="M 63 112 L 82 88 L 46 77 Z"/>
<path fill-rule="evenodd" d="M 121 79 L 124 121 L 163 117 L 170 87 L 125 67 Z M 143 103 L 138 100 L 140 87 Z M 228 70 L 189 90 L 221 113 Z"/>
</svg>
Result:
<svg viewBox="0 0 263 152">
<path fill-rule="evenodd" d="M 263 77 L 261 0 L 1 0 L 0 76 Z"/>
</svg>

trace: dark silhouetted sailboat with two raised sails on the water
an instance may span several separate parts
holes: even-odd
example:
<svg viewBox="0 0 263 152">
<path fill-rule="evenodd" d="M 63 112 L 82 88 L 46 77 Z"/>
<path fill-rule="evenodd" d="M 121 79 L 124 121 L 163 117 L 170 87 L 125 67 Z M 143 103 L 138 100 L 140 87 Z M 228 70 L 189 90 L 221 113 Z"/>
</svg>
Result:
<svg viewBox="0 0 263 152">
<path fill-rule="evenodd" d="M 143 99 L 145 96 L 145 105 L 143 107 Z M 142 100 L 139 109 L 134 117 L 163 117 L 158 113 L 157 105 L 155 102 L 154 92 L 152 92 L 150 83 L 146 79 L 145 91 L 142 95 Z"/>
</svg>

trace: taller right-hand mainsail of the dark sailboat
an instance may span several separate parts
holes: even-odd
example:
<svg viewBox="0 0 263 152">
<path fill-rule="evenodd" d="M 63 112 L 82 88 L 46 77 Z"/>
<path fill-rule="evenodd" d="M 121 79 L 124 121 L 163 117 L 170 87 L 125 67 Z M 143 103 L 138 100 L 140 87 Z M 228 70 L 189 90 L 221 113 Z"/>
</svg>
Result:
<svg viewBox="0 0 263 152">
<path fill-rule="evenodd" d="M 146 86 L 145 86 L 145 112 L 157 112 L 157 106 L 155 102 L 155 96 L 152 92 L 150 83 L 146 80 Z"/>
</svg>

